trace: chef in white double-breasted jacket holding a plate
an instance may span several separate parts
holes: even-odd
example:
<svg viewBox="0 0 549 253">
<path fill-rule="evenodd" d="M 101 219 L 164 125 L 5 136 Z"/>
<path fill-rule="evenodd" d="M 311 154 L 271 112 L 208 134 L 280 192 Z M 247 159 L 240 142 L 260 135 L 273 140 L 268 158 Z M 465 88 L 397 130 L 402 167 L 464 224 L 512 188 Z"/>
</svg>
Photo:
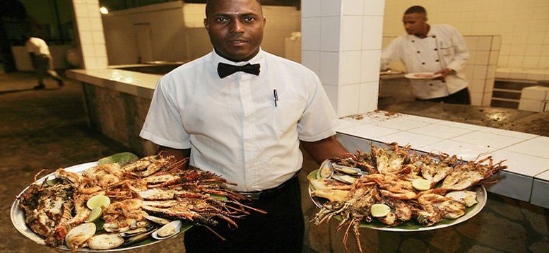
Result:
<svg viewBox="0 0 549 253">
<path fill-rule="evenodd" d="M 402 60 L 408 73 L 440 74 L 435 79 L 412 79 L 416 100 L 471 104 L 468 83 L 461 70 L 469 58 L 464 38 L 450 25 L 427 24 L 427 11 L 412 6 L 402 22 L 406 35 L 393 40 L 382 52 L 382 69 Z"/>
</svg>

